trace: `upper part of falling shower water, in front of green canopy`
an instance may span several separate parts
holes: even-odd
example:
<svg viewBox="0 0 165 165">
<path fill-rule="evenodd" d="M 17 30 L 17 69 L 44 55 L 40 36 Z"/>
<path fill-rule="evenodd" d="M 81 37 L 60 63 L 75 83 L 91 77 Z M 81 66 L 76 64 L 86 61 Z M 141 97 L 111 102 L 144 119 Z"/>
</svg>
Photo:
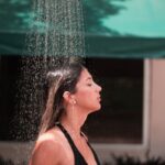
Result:
<svg viewBox="0 0 165 165">
<path fill-rule="evenodd" d="M 33 55 L 84 55 L 82 7 L 79 0 L 36 0 L 30 52 Z"/>
</svg>

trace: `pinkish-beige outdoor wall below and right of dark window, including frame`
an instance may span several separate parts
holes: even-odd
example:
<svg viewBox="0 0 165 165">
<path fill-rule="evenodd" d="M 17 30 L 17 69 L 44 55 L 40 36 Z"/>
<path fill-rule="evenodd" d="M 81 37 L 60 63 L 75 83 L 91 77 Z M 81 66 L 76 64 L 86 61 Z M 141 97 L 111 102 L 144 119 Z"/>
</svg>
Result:
<svg viewBox="0 0 165 165">
<path fill-rule="evenodd" d="M 98 145 L 94 144 L 101 161 L 109 162 L 111 154 L 145 158 L 150 156 L 165 157 L 165 59 L 148 61 L 148 113 L 147 113 L 147 143 L 145 145 Z M 146 87 L 145 87 L 146 88 Z M 0 155 L 22 162 L 28 158 L 29 144 L 0 142 Z"/>
</svg>

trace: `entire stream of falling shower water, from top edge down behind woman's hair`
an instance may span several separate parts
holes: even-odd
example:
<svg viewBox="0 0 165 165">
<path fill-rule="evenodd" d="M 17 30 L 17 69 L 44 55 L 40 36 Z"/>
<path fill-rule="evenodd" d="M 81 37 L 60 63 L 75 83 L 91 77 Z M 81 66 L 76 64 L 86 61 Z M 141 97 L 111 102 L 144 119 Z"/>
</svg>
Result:
<svg viewBox="0 0 165 165">
<path fill-rule="evenodd" d="M 21 62 L 13 129 L 16 130 L 14 138 L 22 141 L 36 138 L 46 72 L 58 65 L 67 65 L 70 56 L 85 56 L 80 0 L 35 0 L 33 11 L 34 21 L 26 37 L 28 52 Z"/>
</svg>

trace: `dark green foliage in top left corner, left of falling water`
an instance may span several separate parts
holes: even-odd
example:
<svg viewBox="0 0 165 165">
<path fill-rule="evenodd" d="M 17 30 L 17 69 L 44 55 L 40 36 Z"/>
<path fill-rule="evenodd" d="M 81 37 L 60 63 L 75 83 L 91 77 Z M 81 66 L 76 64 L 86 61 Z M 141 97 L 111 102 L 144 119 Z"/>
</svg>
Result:
<svg viewBox="0 0 165 165">
<path fill-rule="evenodd" d="M 1 30 L 26 30 L 31 26 L 32 0 L 0 0 L 0 29 Z"/>
</svg>

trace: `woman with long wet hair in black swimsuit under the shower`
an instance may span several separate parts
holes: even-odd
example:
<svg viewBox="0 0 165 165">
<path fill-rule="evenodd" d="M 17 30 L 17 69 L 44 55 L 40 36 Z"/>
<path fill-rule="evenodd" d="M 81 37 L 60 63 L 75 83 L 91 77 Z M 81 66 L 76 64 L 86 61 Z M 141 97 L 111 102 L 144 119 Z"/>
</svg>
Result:
<svg viewBox="0 0 165 165">
<path fill-rule="evenodd" d="M 101 87 L 78 62 L 50 72 L 47 80 L 47 102 L 30 165 L 99 165 L 80 129 L 87 116 L 100 109 Z"/>
</svg>

